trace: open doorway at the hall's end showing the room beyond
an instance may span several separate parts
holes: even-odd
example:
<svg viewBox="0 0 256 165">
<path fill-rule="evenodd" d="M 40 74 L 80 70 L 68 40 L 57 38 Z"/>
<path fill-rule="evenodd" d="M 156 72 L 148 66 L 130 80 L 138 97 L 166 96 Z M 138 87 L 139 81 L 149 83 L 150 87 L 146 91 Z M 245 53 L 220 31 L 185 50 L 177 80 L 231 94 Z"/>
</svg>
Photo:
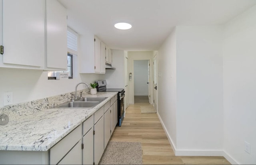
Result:
<svg viewBox="0 0 256 165">
<path fill-rule="evenodd" d="M 150 104 L 149 60 L 134 60 L 134 104 Z"/>
</svg>

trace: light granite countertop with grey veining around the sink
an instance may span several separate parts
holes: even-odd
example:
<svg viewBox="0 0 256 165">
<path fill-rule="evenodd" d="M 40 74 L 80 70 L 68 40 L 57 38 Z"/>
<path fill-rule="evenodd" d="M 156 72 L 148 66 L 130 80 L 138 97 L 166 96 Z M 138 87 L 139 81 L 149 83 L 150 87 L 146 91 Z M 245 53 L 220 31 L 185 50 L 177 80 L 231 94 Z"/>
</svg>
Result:
<svg viewBox="0 0 256 165">
<path fill-rule="evenodd" d="M 0 126 L 0 150 L 47 151 L 92 116 L 118 92 L 98 92 L 83 97 L 108 97 L 91 109 L 44 108 Z"/>
</svg>

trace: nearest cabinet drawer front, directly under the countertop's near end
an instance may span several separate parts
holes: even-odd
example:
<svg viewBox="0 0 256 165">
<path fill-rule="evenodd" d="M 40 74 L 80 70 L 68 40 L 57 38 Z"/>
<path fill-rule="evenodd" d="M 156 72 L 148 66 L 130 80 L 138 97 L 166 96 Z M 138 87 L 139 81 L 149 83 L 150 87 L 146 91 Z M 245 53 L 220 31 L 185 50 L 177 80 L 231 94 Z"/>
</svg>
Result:
<svg viewBox="0 0 256 165">
<path fill-rule="evenodd" d="M 50 148 L 50 164 L 56 165 L 66 153 L 81 139 L 82 125 L 80 124 L 56 145 Z"/>
</svg>

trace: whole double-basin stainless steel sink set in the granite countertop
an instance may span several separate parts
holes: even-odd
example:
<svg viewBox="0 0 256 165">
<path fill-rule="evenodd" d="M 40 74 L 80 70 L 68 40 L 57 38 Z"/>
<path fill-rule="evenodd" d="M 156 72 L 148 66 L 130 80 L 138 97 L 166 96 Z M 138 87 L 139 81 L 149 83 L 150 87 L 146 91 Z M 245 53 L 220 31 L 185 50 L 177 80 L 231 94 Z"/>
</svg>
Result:
<svg viewBox="0 0 256 165">
<path fill-rule="evenodd" d="M 78 98 L 72 102 L 65 102 L 58 106 L 54 106 L 53 108 L 93 108 L 94 106 L 100 104 L 100 102 L 104 101 L 107 97 L 83 97 Z"/>
</svg>

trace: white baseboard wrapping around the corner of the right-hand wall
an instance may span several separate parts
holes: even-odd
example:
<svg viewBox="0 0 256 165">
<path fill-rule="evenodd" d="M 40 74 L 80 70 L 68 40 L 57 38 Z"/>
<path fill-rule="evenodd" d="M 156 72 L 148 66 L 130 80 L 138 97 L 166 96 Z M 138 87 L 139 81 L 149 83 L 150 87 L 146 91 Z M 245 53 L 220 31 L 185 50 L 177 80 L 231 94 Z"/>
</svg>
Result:
<svg viewBox="0 0 256 165">
<path fill-rule="evenodd" d="M 164 132 L 172 146 L 172 149 L 174 151 L 174 154 L 176 156 L 224 156 L 224 151 L 222 150 L 177 150 L 176 146 L 174 145 L 174 143 L 172 142 L 172 139 L 170 137 L 170 135 L 168 134 L 166 127 L 162 121 L 162 118 L 160 117 L 160 115 L 157 113 L 158 118 L 164 128 Z M 227 154 L 226 154 L 227 155 Z M 225 156 L 224 156 L 225 157 Z M 225 157 L 226 158 L 226 157 Z M 227 158 L 226 158 L 227 159 Z M 230 159 L 227 159 L 231 164 L 237 164 L 236 161 L 234 161 L 234 159 L 232 159 L 230 157 Z"/>
</svg>

